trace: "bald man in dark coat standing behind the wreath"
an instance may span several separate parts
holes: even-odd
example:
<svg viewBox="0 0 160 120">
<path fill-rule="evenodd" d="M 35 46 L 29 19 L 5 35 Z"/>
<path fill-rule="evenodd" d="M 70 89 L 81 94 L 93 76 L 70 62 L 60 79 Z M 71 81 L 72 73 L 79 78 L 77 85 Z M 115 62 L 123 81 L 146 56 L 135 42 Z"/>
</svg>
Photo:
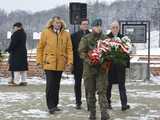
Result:
<svg viewBox="0 0 160 120">
<path fill-rule="evenodd" d="M 122 38 L 123 35 L 119 33 L 119 23 L 114 21 L 111 25 L 111 32 L 107 35 L 109 38 L 119 37 Z M 120 93 L 120 100 L 122 105 L 122 111 L 125 111 L 130 108 L 127 105 L 127 95 L 126 95 L 126 87 L 125 87 L 125 69 L 129 67 L 129 55 L 126 60 L 127 64 L 118 64 L 112 62 L 109 73 L 108 73 L 108 87 L 107 87 L 107 100 L 109 103 L 109 109 L 112 109 L 111 106 L 111 90 L 112 84 L 118 84 L 119 93 Z"/>
</svg>

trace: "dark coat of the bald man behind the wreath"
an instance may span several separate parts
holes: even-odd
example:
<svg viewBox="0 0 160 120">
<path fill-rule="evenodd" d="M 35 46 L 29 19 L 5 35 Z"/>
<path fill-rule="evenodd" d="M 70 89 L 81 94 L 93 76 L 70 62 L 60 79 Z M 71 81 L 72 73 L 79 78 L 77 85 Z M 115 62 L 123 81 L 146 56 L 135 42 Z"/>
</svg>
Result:
<svg viewBox="0 0 160 120">
<path fill-rule="evenodd" d="M 107 35 L 107 37 L 113 38 L 114 36 L 112 33 L 109 33 Z M 117 37 L 122 38 L 123 35 L 118 33 Z M 129 64 L 130 64 L 129 61 L 130 61 L 130 57 L 128 55 L 126 66 L 112 62 L 110 69 L 109 69 L 109 73 L 108 73 L 109 84 L 116 84 L 116 83 L 120 83 L 120 82 L 125 82 L 125 68 L 129 67 Z"/>
</svg>

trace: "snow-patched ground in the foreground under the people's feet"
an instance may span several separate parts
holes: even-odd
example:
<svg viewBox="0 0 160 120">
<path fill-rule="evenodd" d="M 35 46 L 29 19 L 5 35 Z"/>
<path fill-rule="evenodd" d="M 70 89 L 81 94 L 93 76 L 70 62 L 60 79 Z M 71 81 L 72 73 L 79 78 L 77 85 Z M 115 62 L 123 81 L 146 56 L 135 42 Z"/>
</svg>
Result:
<svg viewBox="0 0 160 120">
<path fill-rule="evenodd" d="M 84 94 L 83 109 L 75 109 L 73 76 L 63 76 L 59 103 L 62 111 L 55 115 L 47 112 L 45 80 L 28 78 L 26 87 L 7 86 L 8 80 L 0 78 L 0 120 L 88 120 Z M 160 76 L 152 76 L 148 82 L 128 81 L 126 86 L 131 109 L 121 111 L 118 89 L 113 86 L 111 120 L 160 120 Z M 100 120 L 98 105 L 97 117 Z"/>
</svg>

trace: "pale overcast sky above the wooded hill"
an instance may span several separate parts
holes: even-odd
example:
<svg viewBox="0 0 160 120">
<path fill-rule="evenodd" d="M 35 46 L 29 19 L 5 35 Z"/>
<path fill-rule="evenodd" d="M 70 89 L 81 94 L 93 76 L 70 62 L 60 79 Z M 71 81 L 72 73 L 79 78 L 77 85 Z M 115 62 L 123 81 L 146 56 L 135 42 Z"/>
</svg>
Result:
<svg viewBox="0 0 160 120">
<path fill-rule="evenodd" d="M 14 10 L 26 10 L 37 12 L 60 6 L 62 4 L 69 5 L 69 2 L 94 2 L 96 0 L 0 0 L 0 8 L 7 12 Z M 99 0 L 111 3 L 116 0 Z"/>
</svg>

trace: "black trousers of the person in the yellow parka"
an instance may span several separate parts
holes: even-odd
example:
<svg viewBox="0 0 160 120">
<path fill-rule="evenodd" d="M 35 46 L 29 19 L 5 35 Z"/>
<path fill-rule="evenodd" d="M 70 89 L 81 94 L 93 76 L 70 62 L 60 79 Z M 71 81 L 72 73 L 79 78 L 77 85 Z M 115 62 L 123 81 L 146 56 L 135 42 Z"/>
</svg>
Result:
<svg viewBox="0 0 160 120">
<path fill-rule="evenodd" d="M 45 70 L 46 101 L 48 109 L 57 107 L 59 103 L 59 89 L 62 71 Z"/>
</svg>

